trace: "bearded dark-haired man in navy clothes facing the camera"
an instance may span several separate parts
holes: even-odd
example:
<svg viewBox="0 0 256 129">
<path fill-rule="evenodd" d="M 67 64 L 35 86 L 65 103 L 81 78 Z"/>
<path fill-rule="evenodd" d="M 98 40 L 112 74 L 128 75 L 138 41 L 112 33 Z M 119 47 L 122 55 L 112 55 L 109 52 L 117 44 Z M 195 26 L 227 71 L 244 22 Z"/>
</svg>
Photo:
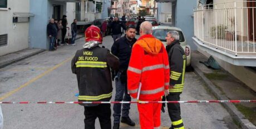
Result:
<svg viewBox="0 0 256 129">
<path fill-rule="evenodd" d="M 117 39 L 112 48 L 111 53 L 119 58 L 120 69 L 115 71 L 115 82 L 116 82 L 116 95 L 115 101 L 131 101 L 130 95 L 127 93 L 127 69 L 131 56 L 131 49 L 134 43 L 136 42 L 135 38 L 136 27 L 130 25 L 126 28 L 125 36 Z M 121 117 L 121 106 L 122 106 L 122 117 Z M 135 126 L 135 122 L 132 121 L 129 117 L 130 103 L 114 104 L 114 127 L 113 129 L 119 128 L 120 117 L 121 122 L 126 123 L 130 126 Z"/>
</svg>

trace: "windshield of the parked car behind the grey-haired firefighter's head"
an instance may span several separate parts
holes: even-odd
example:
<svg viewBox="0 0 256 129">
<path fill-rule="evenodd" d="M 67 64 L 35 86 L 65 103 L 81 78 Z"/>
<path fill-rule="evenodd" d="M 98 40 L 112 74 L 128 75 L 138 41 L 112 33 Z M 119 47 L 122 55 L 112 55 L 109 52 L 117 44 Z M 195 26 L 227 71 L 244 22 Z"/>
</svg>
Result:
<svg viewBox="0 0 256 129">
<path fill-rule="evenodd" d="M 152 32 L 152 35 L 154 37 L 156 37 L 157 39 L 159 39 L 160 41 L 166 42 L 165 37 L 169 31 L 173 31 L 173 30 L 171 30 L 171 29 L 154 29 Z M 177 32 L 179 32 L 179 35 L 180 35 L 180 42 L 184 42 L 185 38 L 183 36 L 183 33 L 181 31 L 177 31 Z"/>
</svg>

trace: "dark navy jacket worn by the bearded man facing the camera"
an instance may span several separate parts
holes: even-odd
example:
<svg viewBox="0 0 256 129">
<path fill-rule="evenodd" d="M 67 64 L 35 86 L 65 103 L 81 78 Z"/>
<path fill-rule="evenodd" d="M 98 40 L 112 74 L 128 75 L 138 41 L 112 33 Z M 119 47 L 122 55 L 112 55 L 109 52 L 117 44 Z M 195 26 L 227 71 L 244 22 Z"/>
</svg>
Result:
<svg viewBox="0 0 256 129">
<path fill-rule="evenodd" d="M 117 39 L 111 47 L 111 53 L 119 58 L 120 70 L 126 71 L 129 66 L 131 49 L 134 43 L 137 41 L 136 38 L 132 39 L 130 42 L 125 36 Z"/>
</svg>

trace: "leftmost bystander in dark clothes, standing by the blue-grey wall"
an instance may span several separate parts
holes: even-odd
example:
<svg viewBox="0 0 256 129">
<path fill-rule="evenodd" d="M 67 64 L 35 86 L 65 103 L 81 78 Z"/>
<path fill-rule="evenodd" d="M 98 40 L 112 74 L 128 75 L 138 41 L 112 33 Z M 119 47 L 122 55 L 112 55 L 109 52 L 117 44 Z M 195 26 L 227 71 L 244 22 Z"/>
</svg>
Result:
<svg viewBox="0 0 256 129">
<path fill-rule="evenodd" d="M 49 47 L 49 51 L 53 51 L 55 50 L 54 48 L 54 43 L 57 37 L 57 27 L 54 23 L 54 19 L 51 18 L 50 22 L 47 25 L 47 33 L 48 33 L 48 37 L 50 38 L 50 47 Z"/>
</svg>

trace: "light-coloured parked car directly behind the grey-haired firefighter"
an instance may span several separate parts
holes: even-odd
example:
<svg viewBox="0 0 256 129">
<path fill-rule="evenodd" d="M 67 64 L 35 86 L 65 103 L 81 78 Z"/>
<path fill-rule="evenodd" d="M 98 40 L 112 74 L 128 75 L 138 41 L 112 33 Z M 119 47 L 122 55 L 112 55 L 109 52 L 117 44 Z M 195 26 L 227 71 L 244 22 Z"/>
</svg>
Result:
<svg viewBox="0 0 256 129">
<path fill-rule="evenodd" d="M 169 31 L 178 31 L 180 35 L 180 46 L 184 49 L 186 54 L 186 67 L 191 69 L 191 50 L 188 43 L 186 43 L 185 36 L 183 34 L 183 31 L 178 27 L 170 27 L 170 26 L 155 26 L 152 27 L 152 35 L 163 42 L 163 44 L 166 46 L 166 34 Z"/>
</svg>

